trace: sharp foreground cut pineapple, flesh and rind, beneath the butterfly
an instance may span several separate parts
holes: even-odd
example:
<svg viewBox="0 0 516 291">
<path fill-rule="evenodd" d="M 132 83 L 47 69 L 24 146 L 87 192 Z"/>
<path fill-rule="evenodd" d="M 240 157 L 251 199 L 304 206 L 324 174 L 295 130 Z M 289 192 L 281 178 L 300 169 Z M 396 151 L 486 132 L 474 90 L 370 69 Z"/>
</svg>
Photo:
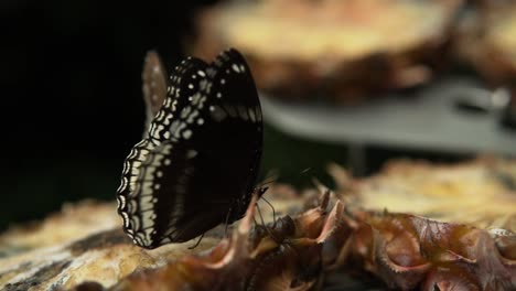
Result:
<svg viewBox="0 0 516 291">
<path fill-rule="evenodd" d="M 141 249 L 119 229 L 114 205 L 68 206 L 43 224 L 0 237 L 0 283 L 6 290 L 314 290 L 353 274 L 357 281 L 376 278 L 390 289 L 513 290 L 516 235 L 493 226 L 503 219 L 490 214 L 483 224 L 452 222 L 447 219 L 460 215 L 432 217 L 426 208 L 418 213 L 417 204 L 411 207 L 418 215 L 366 208 L 361 195 L 369 195 L 369 186 L 375 193 L 384 188 L 399 202 L 397 192 L 406 195 L 418 185 L 420 193 L 448 191 L 459 201 L 460 190 L 481 185 L 475 195 L 514 195 L 515 170 L 514 161 L 493 159 L 453 166 L 398 162 L 365 180 L 333 169 L 340 187 L 332 198 L 327 191 L 299 196 L 275 185 L 267 195 L 283 215 L 276 224 L 254 224 L 251 203 L 230 237 L 207 234 L 194 250 L 187 249 L 194 241 Z M 417 192 L 411 195 L 419 201 Z M 302 204 L 311 206 L 302 211 Z M 260 209 L 270 220 L 270 211 Z"/>
</svg>

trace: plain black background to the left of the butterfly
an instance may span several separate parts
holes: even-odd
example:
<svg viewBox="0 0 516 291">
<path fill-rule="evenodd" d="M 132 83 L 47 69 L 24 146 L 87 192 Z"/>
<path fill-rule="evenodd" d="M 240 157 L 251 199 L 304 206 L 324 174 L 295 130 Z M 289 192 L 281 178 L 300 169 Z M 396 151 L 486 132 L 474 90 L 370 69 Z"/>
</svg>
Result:
<svg viewBox="0 0 516 291">
<path fill-rule="evenodd" d="M 215 1 L 0 1 L 0 229 L 65 201 L 114 200 L 144 120 L 141 68 L 183 57 Z"/>
</svg>

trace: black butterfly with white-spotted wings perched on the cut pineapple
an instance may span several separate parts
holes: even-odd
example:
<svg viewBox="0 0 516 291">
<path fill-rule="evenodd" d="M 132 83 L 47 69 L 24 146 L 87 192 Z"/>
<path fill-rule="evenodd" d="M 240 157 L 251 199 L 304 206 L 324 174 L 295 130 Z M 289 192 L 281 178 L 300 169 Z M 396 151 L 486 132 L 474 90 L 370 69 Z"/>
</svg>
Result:
<svg viewBox="0 0 516 291">
<path fill-rule="evenodd" d="M 143 139 L 123 163 L 118 214 L 135 244 L 184 242 L 245 214 L 262 152 L 258 93 L 244 56 L 187 57 L 166 80 L 155 54 L 143 72 Z M 160 103 L 161 106 L 159 105 Z"/>
</svg>

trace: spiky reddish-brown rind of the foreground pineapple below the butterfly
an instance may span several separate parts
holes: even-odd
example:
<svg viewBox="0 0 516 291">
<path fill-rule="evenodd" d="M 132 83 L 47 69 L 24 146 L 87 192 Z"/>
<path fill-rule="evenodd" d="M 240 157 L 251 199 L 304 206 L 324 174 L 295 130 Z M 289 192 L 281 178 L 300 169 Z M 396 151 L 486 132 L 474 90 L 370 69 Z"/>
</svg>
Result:
<svg viewBox="0 0 516 291">
<path fill-rule="evenodd" d="M 309 290 L 322 273 L 361 269 L 401 290 L 512 290 L 516 235 L 410 214 L 321 205 L 251 230 L 254 206 L 206 255 L 138 272 L 114 290 Z M 165 284 L 165 285 L 164 285 Z"/>
</svg>

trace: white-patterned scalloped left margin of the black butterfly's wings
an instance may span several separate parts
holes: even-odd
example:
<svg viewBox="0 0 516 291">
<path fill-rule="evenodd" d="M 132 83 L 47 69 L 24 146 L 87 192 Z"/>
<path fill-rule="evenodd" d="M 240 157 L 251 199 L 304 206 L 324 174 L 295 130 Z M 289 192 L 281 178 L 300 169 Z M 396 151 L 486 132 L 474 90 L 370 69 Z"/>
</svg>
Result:
<svg viewBox="0 0 516 291">
<path fill-rule="evenodd" d="M 150 67 L 152 66 L 147 65 L 146 68 Z M 169 140 L 178 140 L 170 132 L 170 123 L 181 106 L 187 104 L 187 97 L 183 98 L 182 94 L 192 95 L 198 90 L 198 73 L 206 67 L 206 63 L 193 57 L 175 67 L 166 88 L 168 96 L 150 122 L 144 133 L 146 138 L 133 147 L 125 161 L 121 185 L 117 195 L 118 212 L 123 219 L 123 229 L 140 246 L 152 245 L 150 229 L 154 226 L 154 222 L 160 219 L 158 213 L 147 209 L 149 203 L 157 200 L 157 196 L 153 196 L 155 194 L 149 193 L 153 182 L 149 181 L 152 171 L 149 164 L 152 161 L 157 163 L 158 154 L 163 151 L 163 147 L 158 147 L 159 144 Z M 142 176 L 143 172 L 146 175 Z M 147 208 L 142 205 L 147 205 Z"/>
</svg>

